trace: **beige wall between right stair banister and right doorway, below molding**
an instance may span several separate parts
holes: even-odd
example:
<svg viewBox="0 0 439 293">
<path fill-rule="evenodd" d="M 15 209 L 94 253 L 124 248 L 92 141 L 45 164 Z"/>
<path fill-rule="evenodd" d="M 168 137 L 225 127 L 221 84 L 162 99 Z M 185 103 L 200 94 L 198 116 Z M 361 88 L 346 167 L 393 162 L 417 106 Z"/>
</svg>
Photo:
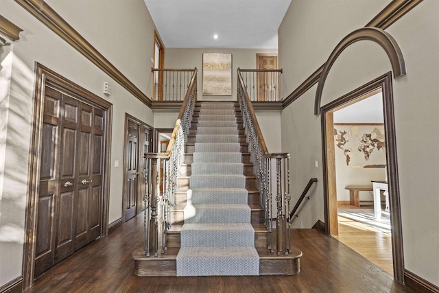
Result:
<svg viewBox="0 0 439 293">
<path fill-rule="evenodd" d="M 313 86 L 281 115 L 282 151 L 291 155 L 292 202 L 297 202 L 309 179 L 318 179 L 309 190 L 310 200 L 300 211 L 300 217 L 294 220 L 293 228 L 311 228 L 317 220 L 324 222 L 320 117 L 314 116 L 312 110 L 315 91 Z"/>
</svg>

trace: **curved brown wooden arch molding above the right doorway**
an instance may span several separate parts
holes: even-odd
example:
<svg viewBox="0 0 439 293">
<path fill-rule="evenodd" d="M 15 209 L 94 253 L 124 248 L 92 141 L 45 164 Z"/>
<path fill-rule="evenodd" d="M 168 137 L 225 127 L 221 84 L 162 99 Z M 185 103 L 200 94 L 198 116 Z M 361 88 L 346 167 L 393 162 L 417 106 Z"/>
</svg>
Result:
<svg viewBox="0 0 439 293">
<path fill-rule="evenodd" d="M 331 70 L 331 67 L 335 60 L 337 60 L 338 56 L 342 54 L 342 51 L 359 40 L 372 40 L 384 49 L 389 57 L 390 64 L 392 65 L 394 78 L 399 78 L 400 76 L 405 75 L 403 53 L 401 52 L 398 43 L 396 43 L 396 40 L 388 32 L 377 27 L 363 27 L 359 30 L 355 30 L 351 32 L 351 34 L 345 36 L 343 40 L 338 43 L 327 62 L 324 63 L 322 73 L 320 73 L 320 78 L 318 80 L 316 99 L 314 100 L 314 115 L 320 114 L 323 86 L 329 70 Z"/>
</svg>

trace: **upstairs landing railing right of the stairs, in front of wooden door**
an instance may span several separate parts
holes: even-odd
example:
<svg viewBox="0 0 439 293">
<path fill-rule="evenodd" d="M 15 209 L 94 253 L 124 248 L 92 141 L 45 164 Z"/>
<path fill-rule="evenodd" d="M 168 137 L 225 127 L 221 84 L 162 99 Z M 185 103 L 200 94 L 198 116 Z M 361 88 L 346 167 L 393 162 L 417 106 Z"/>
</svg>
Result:
<svg viewBox="0 0 439 293">
<path fill-rule="evenodd" d="M 252 102 L 278 102 L 282 69 L 238 69 Z"/>
</svg>

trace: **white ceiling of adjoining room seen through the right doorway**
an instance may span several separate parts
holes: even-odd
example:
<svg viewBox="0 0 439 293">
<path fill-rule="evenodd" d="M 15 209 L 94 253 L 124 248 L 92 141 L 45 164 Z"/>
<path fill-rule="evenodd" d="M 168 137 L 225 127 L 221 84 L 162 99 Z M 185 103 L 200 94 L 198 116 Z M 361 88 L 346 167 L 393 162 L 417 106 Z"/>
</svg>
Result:
<svg viewBox="0 0 439 293">
<path fill-rule="evenodd" d="M 383 95 L 377 93 L 334 112 L 334 123 L 383 123 Z"/>
</svg>

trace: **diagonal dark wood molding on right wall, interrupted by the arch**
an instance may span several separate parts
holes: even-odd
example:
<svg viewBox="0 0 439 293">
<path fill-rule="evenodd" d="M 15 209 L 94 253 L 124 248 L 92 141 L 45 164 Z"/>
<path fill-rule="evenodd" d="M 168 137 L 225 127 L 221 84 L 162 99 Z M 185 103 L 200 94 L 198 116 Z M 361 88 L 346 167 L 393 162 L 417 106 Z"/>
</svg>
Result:
<svg viewBox="0 0 439 293">
<path fill-rule="evenodd" d="M 376 27 L 381 30 L 385 30 L 390 25 L 401 19 L 407 12 L 412 10 L 423 0 L 393 0 L 390 2 L 377 16 L 375 16 L 365 27 Z M 289 104 L 298 99 L 301 95 L 306 93 L 312 86 L 314 86 L 320 80 L 324 63 L 319 69 L 314 71 L 309 78 L 302 82 L 292 93 L 290 93 L 285 99 L 283 99 L 283 108 L 286 108 Z"/>
</svg>

